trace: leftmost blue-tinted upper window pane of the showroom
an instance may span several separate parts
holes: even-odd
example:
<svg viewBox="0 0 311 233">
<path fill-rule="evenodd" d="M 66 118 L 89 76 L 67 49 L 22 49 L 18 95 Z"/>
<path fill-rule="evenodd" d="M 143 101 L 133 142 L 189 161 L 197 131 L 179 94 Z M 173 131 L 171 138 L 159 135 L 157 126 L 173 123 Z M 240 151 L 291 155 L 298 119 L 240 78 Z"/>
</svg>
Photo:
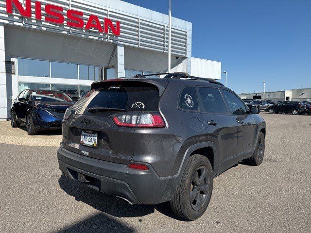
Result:
<svg viewBox="0 0 311 233">
<path fill-rule="evenodd" d="M 50 62 L 27 58 L 17 58 L 18 75 L 50 77 Z"/>
</svg>

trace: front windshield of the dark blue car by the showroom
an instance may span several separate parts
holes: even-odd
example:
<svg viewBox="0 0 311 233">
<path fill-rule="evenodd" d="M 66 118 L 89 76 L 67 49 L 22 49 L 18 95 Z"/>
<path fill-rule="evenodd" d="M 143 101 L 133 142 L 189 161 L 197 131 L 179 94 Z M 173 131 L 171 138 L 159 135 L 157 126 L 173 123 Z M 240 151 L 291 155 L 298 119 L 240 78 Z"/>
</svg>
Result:
<svg viewBox="0 0 311 233">
<path fill-rule="evenodd" d="M 71 102 L 73 101 L 68 95 L 59 91 L 32 91 L 31 99 L 40 102 Z"/>
</svg>

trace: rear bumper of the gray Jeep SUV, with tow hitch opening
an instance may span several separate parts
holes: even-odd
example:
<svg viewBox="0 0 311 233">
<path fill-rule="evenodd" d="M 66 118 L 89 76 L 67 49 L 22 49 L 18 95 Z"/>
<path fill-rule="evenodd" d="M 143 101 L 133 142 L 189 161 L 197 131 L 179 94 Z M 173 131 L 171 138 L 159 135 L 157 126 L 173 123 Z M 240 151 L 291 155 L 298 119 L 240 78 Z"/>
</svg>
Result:
<svg viewBox="0 0 311 233">
<path fill-rule="evenodd" d="M 147 165 L 149 171 L 140 171 L 124 164 L 89 158 L 64 148 L 57 151 L 57 158 L 59 169 L 70 179 L 83 182 L 105 194 L 121 196 L 133 203 L 165 202 L 172 198 L 176 189 L 178 175 L 159 177 L 150 165 Z"/>
</svg>

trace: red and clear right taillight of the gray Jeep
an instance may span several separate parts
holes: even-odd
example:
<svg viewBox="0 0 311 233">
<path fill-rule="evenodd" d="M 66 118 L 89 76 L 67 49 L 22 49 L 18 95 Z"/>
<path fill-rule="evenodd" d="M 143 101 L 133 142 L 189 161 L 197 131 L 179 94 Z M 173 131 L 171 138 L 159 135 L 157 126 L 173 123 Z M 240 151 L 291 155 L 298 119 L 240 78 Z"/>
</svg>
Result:
<svg viewBox="0 0 311 233">
<path fill-rule="evenodd" d="M 138 128 L 161 128 L 165 122 L 159 113 L 122 113 L 112 116 L 117 126 Z"/>
</svg>

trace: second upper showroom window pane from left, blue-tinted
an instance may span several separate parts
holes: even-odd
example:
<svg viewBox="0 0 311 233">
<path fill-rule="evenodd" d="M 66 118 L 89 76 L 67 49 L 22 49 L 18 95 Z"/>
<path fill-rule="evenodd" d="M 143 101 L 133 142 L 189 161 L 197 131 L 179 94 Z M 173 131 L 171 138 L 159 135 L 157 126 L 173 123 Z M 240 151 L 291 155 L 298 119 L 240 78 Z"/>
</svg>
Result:
<svg viewBox="0 0 311 233">
<path fill-rule="evenodd" d="M 52 78 L 78 79 L 78 65 L 63 62 L 51 62 Z"/>
</svg>

